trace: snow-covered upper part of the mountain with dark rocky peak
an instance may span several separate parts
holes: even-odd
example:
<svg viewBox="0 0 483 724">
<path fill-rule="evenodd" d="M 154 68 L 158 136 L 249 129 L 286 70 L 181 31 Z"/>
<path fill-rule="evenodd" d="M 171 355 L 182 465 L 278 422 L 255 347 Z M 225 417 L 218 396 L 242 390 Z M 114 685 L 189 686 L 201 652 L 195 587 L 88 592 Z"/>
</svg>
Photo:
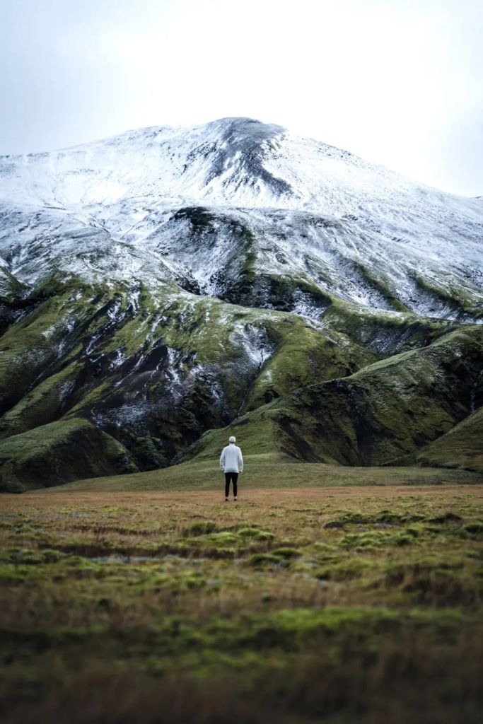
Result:
<svg viewBox="0 0 483 724">
<path fill-rule="evenodd" d="M 483 308 L 481 201 L 251 119 L 4 156 L 0 214 L 0 257 L 28 284 L 56 269 L 169 279 L 280 308 L 291 277 L 282 308 L 304 313 L 326 294 L 450 319 Z"/>
</svg>

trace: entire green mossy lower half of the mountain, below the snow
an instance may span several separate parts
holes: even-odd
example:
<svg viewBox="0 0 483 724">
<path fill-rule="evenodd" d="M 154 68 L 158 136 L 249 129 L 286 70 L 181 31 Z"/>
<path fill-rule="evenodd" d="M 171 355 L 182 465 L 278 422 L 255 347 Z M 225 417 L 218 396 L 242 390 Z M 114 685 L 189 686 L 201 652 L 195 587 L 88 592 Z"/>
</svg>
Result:
<svg viewBox="0 0 483 724">
<path fill-rule="evenodd" d="M 429 450 L 482 403 L 478 325 L 335 298 L 316 319 L 172 283 L 2 282 L 4 490 L 216 455 L 227 427 L 251 452 L 379 465 Z"/>
</svg>

